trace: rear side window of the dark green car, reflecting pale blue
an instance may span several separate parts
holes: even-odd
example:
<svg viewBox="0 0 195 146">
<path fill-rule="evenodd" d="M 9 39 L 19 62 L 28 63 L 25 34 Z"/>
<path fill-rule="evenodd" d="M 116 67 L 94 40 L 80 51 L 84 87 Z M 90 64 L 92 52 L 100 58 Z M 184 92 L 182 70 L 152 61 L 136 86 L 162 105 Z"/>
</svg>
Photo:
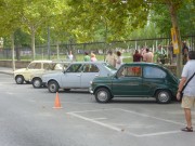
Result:
<svg viewBox="0 0 195 146">
<path fill-rule="evenodd" d="M 166 72 L 161 70 L 160 68 L 156 67 L 144 67 L 143 69 L 143 77 L 144 78 L 165 78 Z"/>
</svg>

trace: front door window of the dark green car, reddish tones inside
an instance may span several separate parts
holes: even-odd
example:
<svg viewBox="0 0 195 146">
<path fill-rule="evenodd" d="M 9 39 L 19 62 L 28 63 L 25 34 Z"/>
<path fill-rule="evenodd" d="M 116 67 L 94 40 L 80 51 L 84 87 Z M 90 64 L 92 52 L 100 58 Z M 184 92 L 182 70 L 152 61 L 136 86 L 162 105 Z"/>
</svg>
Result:
<svg viewBox="0 0 195 146">
<path fill-rule="evenodd" d="M 118 77 L 141 77 L 142 68 L 140 66 L 125 66 L 118 71 Z"/>
</svg>

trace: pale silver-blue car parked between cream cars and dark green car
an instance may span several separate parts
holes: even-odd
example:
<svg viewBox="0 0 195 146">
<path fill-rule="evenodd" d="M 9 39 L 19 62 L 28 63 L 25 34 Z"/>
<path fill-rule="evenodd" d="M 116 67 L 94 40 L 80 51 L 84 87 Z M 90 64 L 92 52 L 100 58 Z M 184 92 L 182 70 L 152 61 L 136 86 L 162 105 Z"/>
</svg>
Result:
<svg viewBox="0 0 195 146">
<path fill-rule="evenodd" d="M 62 72 L 43 75 L 42 82 L 51 93 L 58 89 L 89 89 L 90 81 L 95 77 L 112 76 L 115 72 L 116 68 L 104 62 L 75 62 Z"/>
</svg>

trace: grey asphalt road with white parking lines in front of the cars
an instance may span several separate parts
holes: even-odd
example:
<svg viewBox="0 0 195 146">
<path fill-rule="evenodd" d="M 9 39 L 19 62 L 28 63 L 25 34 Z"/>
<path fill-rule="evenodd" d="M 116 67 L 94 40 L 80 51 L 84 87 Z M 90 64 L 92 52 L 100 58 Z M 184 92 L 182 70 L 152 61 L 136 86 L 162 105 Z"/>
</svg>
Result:
<svg viewBox="0 0 195 146">
<path fill-rule="evenodd" d="M 0 146 L 194 146 L 179 103 L 116 98 L 98 104 L 86 91 L 56 94 L 0 74 Z M 195 125 L 193 109 L 193 124 Z"/>
</svg>

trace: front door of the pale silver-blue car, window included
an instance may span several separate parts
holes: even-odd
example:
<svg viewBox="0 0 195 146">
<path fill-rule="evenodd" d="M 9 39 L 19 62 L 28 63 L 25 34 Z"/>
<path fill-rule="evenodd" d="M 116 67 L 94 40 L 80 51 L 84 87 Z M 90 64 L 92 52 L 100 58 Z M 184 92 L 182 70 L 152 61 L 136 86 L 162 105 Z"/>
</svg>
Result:
<svg viewBox="0 0 195 146">
<path fill-rule="evenodd" d="M 61 77 L 62 88 L 80 88 L 82 64 L 72 64 Z"/>
</svg>

